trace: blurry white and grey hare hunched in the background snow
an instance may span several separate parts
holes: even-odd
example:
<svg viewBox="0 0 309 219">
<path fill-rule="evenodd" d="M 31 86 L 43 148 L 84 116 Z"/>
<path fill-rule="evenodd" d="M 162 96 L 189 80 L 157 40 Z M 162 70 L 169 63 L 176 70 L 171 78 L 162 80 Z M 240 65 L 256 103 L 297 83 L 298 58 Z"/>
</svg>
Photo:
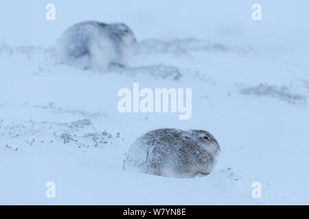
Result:
<svg viewBox="0 0 309 219">
<path fill-rule="evenodd" d="M 123 23 L 77 23 L 57 40 L 57 61 L 84 69 L 126 66 L 135 42 L 133 31 Z"/>
</svg>

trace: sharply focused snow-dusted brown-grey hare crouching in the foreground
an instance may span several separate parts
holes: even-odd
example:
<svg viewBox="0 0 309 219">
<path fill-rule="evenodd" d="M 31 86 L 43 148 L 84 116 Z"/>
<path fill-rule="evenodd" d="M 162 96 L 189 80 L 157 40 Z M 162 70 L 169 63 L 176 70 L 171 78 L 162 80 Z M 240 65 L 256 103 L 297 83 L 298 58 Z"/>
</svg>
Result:
<svg viewBox="0 0 309 219">
<path fill-rule="evenodd" d="M 156 129 L 137 138 L 124 159 L 126 168 L 163 177 L 208 175 L 220 153 L 217 140 L 207 131 Z"/>
</svg>

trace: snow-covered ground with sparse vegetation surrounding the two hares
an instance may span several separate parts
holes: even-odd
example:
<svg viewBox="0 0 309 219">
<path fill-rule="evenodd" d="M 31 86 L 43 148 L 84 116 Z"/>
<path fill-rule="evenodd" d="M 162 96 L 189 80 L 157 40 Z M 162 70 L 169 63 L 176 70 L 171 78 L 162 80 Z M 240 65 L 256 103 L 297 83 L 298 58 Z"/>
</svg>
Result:
<svg viewBox="0 0 309 219">
<path fill-rule="evenodd" d="M 56 5 L 56 21 L 45 5 Z M 7 1 L 0 23 L 0 204 L 309 204 L 308 1 Z M 307 12 L 308 13 L 308 12 Z M 78 21 L 124 22 L 130 67 L 55 64 Z M 175 77 L 176 76 L 176 77 Z M 120 88 L 192 88 L 192 118 L 117 110 Z M 122 170 L 156 128 L 205 129 L 221 146 L 206 177 Z M 56 198 L 45 184 L 56 183 Z M 253 198 L 253 181 L 262 198 Z"/>
</svg>

